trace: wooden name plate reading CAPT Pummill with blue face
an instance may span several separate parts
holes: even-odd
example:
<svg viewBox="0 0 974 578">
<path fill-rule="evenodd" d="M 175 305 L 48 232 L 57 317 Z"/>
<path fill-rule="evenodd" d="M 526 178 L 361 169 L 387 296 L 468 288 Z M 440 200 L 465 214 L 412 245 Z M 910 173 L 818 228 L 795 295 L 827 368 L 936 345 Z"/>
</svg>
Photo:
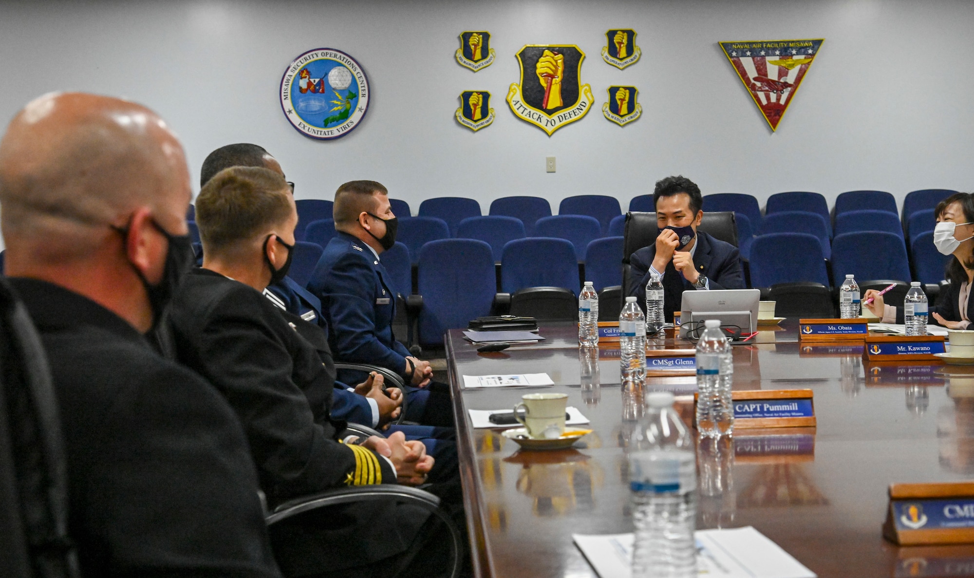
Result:
<svg viewBox="0 0 974 578">
<path fill-rule="evenodd" d="M 693 395 L 695 406 L 699 394 Z M 731 392 L 736 430 L 764 427 L 814 427 L 811 389 L 744 389 Z M 694 408 L 695 415 L 695 408 Z"/>
</svg>

